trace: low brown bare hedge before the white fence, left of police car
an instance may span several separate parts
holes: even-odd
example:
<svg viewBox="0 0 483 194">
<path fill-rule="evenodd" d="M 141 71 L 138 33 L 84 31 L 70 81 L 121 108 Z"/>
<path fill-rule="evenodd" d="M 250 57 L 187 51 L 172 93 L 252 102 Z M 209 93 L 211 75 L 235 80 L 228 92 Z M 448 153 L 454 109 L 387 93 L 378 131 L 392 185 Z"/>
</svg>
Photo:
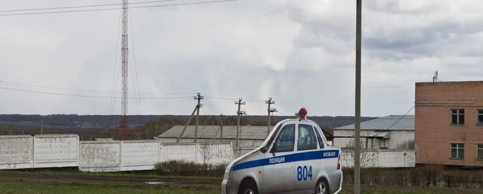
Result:
<svg viewBox="0 0 483 194">
<path fill-rule="evenodd" d="M 156 175 L 161 176 L 198 176 L 223 177 L 226 166 L 208 165 L 184 160 L 170 160 L 157 162 L 153 168 Z"/>
</svg>

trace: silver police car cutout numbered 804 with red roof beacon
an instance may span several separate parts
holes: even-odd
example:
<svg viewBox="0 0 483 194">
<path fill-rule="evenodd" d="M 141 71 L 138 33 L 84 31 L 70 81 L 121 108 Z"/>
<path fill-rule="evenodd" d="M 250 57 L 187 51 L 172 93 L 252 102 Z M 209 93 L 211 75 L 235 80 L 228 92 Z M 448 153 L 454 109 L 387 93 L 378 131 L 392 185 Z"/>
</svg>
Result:
<svg viewBox="0 0 483 194">
<path fill-rule="evenodd" d="M 300 109 L 274 126 L 262 145 L 228 164 L 222 194 L 337 194 L 341 149 L 327 145 L 320 127 Z"/>
</svg>

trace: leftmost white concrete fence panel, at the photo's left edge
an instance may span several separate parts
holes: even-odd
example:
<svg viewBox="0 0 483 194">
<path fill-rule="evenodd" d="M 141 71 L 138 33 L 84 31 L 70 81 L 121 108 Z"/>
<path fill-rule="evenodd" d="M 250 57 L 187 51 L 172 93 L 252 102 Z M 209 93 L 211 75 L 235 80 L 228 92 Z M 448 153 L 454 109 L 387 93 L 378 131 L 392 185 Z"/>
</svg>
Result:
<svg viewBox="0 0 483 194">
<path fill-rule="evenodd" d="M 31 168 L 32 157 L 31 135 L 0 135 L 0 169 Z"/>
</svg>

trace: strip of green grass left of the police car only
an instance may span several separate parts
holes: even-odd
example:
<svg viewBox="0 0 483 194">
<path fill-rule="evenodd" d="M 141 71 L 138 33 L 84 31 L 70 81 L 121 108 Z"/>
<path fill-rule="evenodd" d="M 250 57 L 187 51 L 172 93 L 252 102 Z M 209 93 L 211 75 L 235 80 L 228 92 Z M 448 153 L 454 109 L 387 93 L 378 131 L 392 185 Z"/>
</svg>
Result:
<svg viewBox="0 0 483 194">
<path fill-rule="evenodd" d="M 0 194 L 219 194 L 217 185 L 115 185 L 0 180 Z"/>
</svg>

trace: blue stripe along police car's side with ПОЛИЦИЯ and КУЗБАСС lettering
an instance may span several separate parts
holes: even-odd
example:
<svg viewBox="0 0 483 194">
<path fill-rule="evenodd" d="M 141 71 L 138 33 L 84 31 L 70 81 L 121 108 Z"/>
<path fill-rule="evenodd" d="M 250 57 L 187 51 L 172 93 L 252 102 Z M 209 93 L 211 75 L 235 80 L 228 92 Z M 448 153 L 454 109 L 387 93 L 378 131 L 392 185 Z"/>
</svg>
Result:
<svg viewBox="0 0 483 194">
<path fill-rule="evenodd" d="M 308 161 L 317 159 L 337 158 L 339 157 L 339 150 L 318 150 L 311 152 L 302 152 L 296 154 L 288 154 L 284 156 L 277 156 L 273 158 L 265 158 L 256 161 L 242 162 L 233 166 L 233 171 L 242 170 L 246 168 L 253 168 L 257 166 L 266 166 L 272 164 Z"/>
</svg>

